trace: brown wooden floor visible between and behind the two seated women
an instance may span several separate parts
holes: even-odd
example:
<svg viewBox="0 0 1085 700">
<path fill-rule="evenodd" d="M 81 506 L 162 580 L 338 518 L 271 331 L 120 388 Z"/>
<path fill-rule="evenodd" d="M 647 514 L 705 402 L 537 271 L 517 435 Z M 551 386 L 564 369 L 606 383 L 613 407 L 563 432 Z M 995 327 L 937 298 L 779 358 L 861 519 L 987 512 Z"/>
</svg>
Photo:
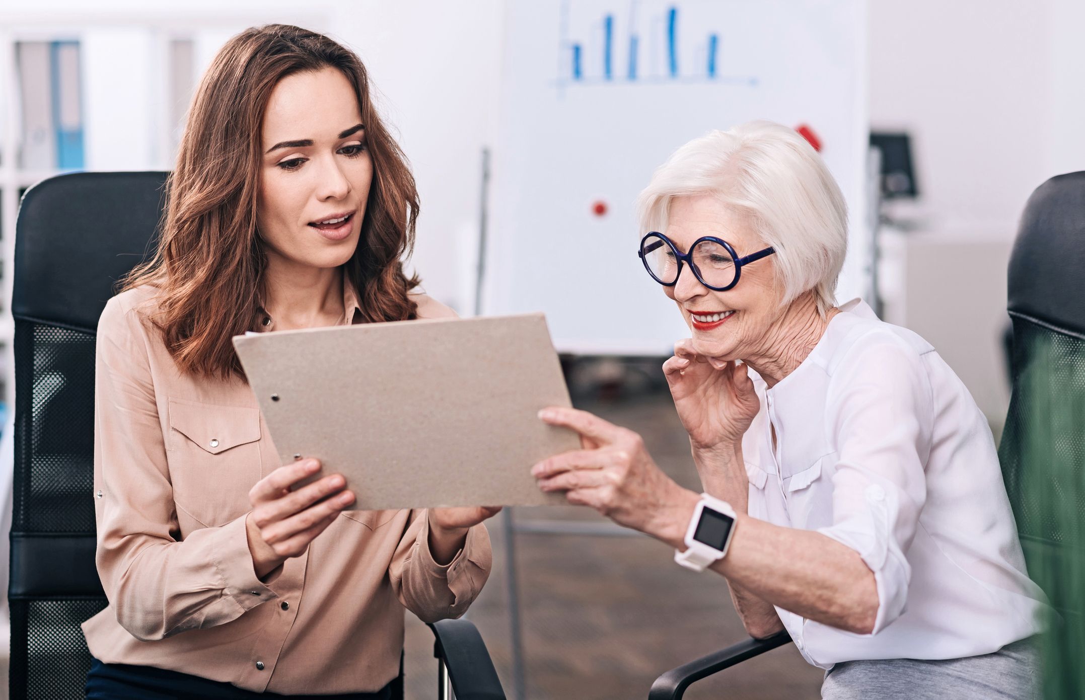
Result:
<svg viewBox="0 0 1085 700">
<path fill-rule="evenodd" d="M 667 473 L 700 491 L 688 438 L 665 390 L 576 403 L 640 432 Z M 518 508 L 514 518 L 601 521 L 572 507 Z M 514 700 L 500 522 L 495 519 L 489 530 L 494 572 L 468 618 L 482 632 Z M 529 700 L 647 698 L 664 671 L 745 638 L 725 582 L 679 568 L 674 550 L 649 537 L 518 533 L 515 547 Z M 408 614 L 411 700 L 436 697 L 432 649 L 429 629 Z M 814 699 L 820 684 L 821 671 L 789 645 L 695 684 L 686 698 Z"/>
</svg>

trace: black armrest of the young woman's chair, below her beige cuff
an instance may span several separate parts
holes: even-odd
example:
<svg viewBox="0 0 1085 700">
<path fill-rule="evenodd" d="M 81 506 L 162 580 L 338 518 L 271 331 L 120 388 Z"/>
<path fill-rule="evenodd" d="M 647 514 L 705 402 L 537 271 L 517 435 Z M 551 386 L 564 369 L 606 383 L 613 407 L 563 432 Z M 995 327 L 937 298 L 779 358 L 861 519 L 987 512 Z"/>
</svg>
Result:
<svg viewBox="0 0 1085 700">
<path fill-rule="evenodd" d="M 474 624 L 460 619 L 427 626 L 435 637 L 433 656 L 445 662 L 457 700 L 506 700 L 486 642 Z"/>
</svg>

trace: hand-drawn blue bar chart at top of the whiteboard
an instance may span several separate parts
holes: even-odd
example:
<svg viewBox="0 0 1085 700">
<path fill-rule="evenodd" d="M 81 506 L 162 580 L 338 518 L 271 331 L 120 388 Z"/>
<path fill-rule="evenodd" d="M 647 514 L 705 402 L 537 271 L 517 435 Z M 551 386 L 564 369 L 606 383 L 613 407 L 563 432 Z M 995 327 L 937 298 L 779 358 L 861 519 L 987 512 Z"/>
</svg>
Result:
<svg viewBox="0 0 1085 700">
<path fill-rule="evenodd" d="M 695 2 L 690 7 L 633 0 L 592 16 L 596 3 L 562 0 L 557 85 L 757 85 L 756 75 L 735 73 L 720 59 L 726 36 L 699 21 Z"/>
</svg>

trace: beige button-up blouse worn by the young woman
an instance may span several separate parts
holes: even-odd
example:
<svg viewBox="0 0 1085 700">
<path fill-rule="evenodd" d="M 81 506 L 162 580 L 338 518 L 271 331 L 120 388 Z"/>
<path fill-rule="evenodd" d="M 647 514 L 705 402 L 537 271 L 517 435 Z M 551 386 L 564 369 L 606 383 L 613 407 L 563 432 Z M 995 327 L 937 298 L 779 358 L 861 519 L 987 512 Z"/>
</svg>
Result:
<svg viewBox="0 0 1085 700">
<path fill-rule="evenodd" d="M 145 320 L 154 292 L 115 296 L 98 326 L 94 506 L 110 604 L 82 625 L 90 652 L 255 691 L 380 689 L 399 672 L 404 608 L 457 618 L 478 595 L 492 563 L 485 526 L 439 565 L 425 510 L 345 511 L 261 583 L 245 514 L 278 451 L 245 382 L 177 369 Z M 420 315 L 439 308 L 419 301 Z M 359 321 L 350 290 L 344 303 L 344 322 Z"/>
</svg>

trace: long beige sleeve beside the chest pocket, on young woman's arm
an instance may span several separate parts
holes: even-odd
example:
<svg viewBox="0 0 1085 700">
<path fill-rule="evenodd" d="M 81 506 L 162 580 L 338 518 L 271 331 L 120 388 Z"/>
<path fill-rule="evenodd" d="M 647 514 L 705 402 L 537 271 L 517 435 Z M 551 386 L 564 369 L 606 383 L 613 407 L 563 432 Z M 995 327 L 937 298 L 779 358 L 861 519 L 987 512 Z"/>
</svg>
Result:
<svg viewBox="0 0 1085 700">
<path fill-rule="evenodd" d="M 98 572 L 138 639 L 220 625 L 275 597 L 253 570 L 244 517 L 183 540 L 145 329 L 116 298 L 99 320 L 94 385 Z"/>
</svg>

